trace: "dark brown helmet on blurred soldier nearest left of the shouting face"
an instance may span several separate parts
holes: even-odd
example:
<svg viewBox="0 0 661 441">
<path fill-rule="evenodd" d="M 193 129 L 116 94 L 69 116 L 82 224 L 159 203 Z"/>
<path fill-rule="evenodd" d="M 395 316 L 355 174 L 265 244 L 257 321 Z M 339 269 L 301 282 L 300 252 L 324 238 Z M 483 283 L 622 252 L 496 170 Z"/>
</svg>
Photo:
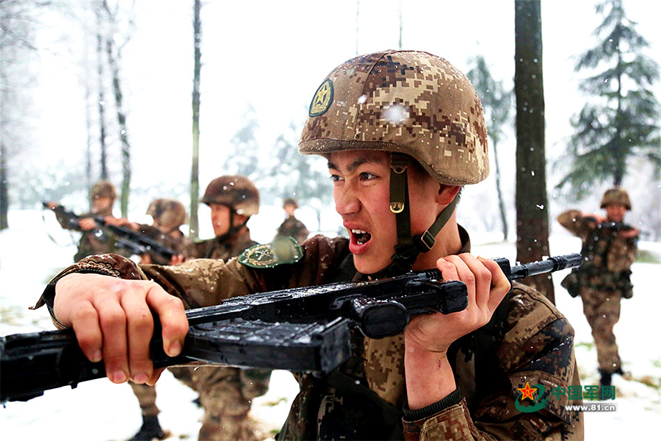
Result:
<svg viewBox="0 0 661 441">
<path fill-rule="evenodd" d="M 260 212 L 260 192 L 245 176 L 221 176 L 207 185 L 202 202 L 220 203 L 238 215 L 252 216 Z"/>
</svg>

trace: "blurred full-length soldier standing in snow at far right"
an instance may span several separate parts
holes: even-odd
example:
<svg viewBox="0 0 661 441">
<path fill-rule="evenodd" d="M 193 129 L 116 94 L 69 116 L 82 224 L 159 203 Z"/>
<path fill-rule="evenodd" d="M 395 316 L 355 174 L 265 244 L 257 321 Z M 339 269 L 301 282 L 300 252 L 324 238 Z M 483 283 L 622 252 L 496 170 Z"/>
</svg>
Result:
<svg viewBox="0 0 661 441">
<path fill-rule="evenodd" d="M 639 231 L 623 223 L 626 211 L 631 210 L 629 195 L 623 189 L 607 190 L 600 208 L 606 210 L 606 217 L 568 210 L 559 215 L 558 222 L 583 242 L 584 262 L 562 286 L 581 297 L 597 347 L 600 381 L 610 386 L 613 373 L 623 373 L 613 327 L 620 318 L 620 300 L 633 295 L 630 268 L 636 258 Z"/>
</svg>

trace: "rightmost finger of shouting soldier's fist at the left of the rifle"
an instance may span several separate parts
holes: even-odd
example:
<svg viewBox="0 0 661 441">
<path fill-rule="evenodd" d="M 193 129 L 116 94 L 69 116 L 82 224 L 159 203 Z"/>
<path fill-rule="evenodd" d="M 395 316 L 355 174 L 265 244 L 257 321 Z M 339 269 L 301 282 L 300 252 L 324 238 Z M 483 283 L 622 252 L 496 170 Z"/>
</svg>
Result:
<svg viewBox="0 0 661 441">
<path fill-rule="evenodd" d="M 157 284 L 152 284 L 147 294 L 147 303 L 161 320 L 163 350 L 170 357 L 179 355 L 189 326 L 184 304 Z"/>
</svg>

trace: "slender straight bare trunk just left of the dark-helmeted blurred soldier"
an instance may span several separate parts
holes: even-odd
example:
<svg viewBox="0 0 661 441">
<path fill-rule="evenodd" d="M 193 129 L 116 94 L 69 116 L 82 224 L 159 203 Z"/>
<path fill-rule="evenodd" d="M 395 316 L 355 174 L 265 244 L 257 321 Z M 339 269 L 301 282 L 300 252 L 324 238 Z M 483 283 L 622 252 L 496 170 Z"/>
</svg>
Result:
<svg viewBox="0 0 661 441">
<path fill-rule="evenodd" d="M 198 199 L 200 197 L 200 42 L 202 24 L 200 22 L 200 0 L 193 0 L 193 166 L 191 167 L 191 222 L 189 237 L 198 238 Z"/>
</svg>

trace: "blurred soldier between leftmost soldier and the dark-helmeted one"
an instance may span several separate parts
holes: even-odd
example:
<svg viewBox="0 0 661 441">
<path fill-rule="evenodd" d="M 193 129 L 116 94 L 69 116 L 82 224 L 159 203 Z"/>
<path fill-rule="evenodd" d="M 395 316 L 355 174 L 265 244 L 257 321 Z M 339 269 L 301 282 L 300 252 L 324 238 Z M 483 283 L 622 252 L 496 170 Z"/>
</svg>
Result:
<svg viewBox="0 0 661 441">
<path fill-rule="evenodd" d="M 131 229 L 138 233 L 147 235 L 156 240 L 159 244 L 180 252 L 182 256 L 190 248 L 190 241 L 181 231 L 180 226 L 186 222 L 186 208 L 184 204 L 175 199 L 155 199 L 150 203 L 147 214 L 153 219 L 151 225 L 148 224 L 127 224 Z M 155 263 L 158 265 L 168 265 L 177 263 L 180 259 L 173 256 L 172 261 L 165 261 L 163 256 L 154 252 L 148 252 L 141 256 L 141 264 Z M 191 383 L 191 369 L 173 368 L 170 370 L 175 377 L 182 380 L 186 385 Z M 145 384 L 136 384 L 129 382 L 133 392 L 140 404 L 143 423 L 138 432 L 129 441 L 143 440 L 163 440 L 168 435 L 159 422 L 159 408 L 156 405 L 156 389 L 153 386 Z"/>
</svg>

